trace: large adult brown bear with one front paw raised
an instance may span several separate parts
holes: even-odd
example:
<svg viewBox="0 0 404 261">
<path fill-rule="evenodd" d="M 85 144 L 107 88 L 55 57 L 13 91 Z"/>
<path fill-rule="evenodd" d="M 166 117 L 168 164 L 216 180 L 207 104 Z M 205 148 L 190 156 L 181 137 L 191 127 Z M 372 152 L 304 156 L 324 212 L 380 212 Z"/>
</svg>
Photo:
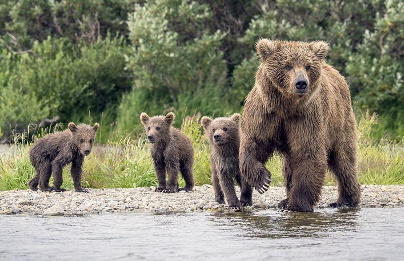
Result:
<svg viewBox="0 0 404 261">
<path fill-rule="evenodd" d="M 357 131 L 345 79 L 325 62 L 326 42 L 261 39 L 261 64 L 241 119 L 240 172 L 263 193 L 275 151 L 283 162 L 287 197 L 280 210 L 313 211 L 327 166 L 338 181 L 330 207 L 357 207 Z"/>
</svg>

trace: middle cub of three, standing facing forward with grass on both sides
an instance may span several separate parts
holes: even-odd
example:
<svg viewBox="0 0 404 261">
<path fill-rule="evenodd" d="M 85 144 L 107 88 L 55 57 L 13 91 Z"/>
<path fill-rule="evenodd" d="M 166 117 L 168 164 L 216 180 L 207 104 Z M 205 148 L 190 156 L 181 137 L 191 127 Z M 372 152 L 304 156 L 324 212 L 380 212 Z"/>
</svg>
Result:
<svg viewBox="0 0 404 261">
<path fill-rule="evenodd" d="M 140 120 L 146 130 L 150 143 L 150 153 L 159 180 L 157 192 L 173 193 L 178 190 L 190 191 L 194 181 L 192 174 L 193 146 L 191 141 L 179 129 L 171 124 L 175 118 L 170 112 L 166 116 L 149 117 L 140 114 Z M 166 170 L 168 182 L 166 183 Z M 178 188 L 178 172 L 185 181 L 184 188 Z"/>
</svg>

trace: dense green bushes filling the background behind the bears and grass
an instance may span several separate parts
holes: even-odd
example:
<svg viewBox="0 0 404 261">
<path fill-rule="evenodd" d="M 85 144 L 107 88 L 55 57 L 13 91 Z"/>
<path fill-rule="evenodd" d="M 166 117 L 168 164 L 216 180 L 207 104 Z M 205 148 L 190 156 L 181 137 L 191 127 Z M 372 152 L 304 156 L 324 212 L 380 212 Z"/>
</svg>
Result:
<svg viewBox="0 0 404 261">
<path fill-rule="evenodd" d="M 102 122 L 105 143 L 138 134 L 142 111 L 174 111 L 177 126 L 241 112 L 254 44 L 268 37 L 328 41 L 357 111 L 380 116 L 373 136 L 403 136 L 403 10 L 400 0 L 2 1 L 0 133 L 58 116 Z"/>
</svg>

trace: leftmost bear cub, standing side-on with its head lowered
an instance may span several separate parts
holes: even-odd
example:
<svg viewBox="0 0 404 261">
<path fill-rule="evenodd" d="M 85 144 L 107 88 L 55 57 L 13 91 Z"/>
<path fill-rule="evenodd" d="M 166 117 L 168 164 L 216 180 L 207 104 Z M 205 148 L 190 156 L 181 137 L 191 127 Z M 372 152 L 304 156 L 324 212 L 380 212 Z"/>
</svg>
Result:
<svg viewBox="0 0 404 261">
<path fill-rule="evenodd" d="M 90 154 L 95 134 L 99 125 L 78 124 L 70 122 L 63 132 L 47 135 L 37 140 L 30 148 L 29 159 L 35 168 L 36 175 L 29 181 L 29 188 L 42 191 L 66 189 L 63 183 L 63 167 L 72 163 L 71 174 L 77 192 L 88 192 L 81 186 L 81 173 L 84 156 Z M 54 175 L 54 185 L 49 186 L 49 178 Z"/>
</svg>

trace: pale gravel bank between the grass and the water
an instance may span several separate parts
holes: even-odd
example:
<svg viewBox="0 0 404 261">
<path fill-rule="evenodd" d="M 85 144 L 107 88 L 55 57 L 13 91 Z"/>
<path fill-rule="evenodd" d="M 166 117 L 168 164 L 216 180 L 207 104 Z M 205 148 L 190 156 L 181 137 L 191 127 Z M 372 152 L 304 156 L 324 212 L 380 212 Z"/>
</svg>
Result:
<svg viewBox="0 0 404 261">
<path fill-rule="evenodd" d="M 90 189 L 89 193 L 41 192 L 27 190 L 0 191 L 0 214 L 77 215 L 102 212 L 192 212 L 223 211 L 226 205 L 214 201 L 211 185 L 196 186 L 193 191 L 173 194 L 154 192 L 155 187 Z M 237 195 L 239 195 L 237 187 Z M 283 187 L 270 187 L 264 194 L 253 193 L 254 209 L 275 209 L 285 198 Z M 316 208 L 325 208 L 337 199 L 337 187 L 325 186 Z M 362 208 L 391 208 L 404 206 L 404 185 L 363 185 Z"/>
</svg>

